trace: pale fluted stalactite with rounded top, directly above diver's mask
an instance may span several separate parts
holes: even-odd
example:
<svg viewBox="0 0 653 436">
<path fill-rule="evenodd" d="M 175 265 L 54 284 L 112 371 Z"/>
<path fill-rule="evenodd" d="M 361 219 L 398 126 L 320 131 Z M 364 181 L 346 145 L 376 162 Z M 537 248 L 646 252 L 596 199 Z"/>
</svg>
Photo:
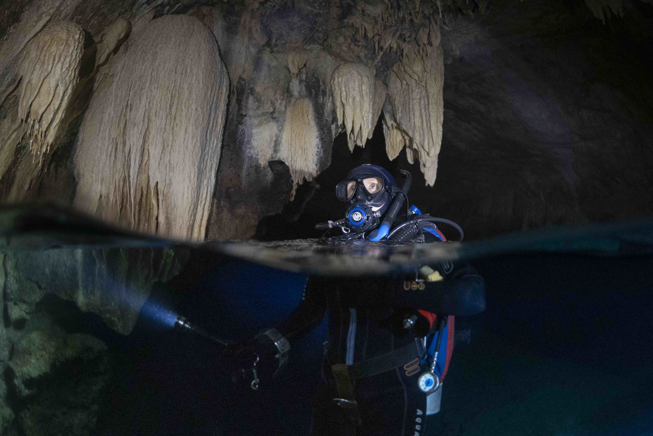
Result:
<svg viewBox="0 0 653 436">
<path fill-rule="evenodd" d="M 349 150 L 365 146 L 374 129 L 374 77 L 360 63 L 343 63 L 331 76 L 331 91 L 338 123 L 345 126 Z"/>
</svg>

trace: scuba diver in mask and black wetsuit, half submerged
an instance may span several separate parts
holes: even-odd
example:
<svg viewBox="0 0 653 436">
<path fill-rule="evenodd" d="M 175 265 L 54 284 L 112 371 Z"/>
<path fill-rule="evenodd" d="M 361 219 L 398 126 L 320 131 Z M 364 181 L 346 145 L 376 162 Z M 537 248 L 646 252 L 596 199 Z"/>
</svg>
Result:
<svg viewBox="0 0 653 436">
<path fill-rule="evenodd" d="M 399 188 L 388 171 L 360 165 L 336 186 L 345 218 L 319 224 L 337 240 L 446 243 L 436 223 L 457 224 L 408 207 L 411 178 Z M 404 202 L 406 209 L 403 208 Z M 300 305 L 279 326 L 230 348 L 237 377 L 257 389 L 279 373 L 291 341 L 325 313 L 323 386 L 311 435 L 435 434 L 435 414 L 453 351 L 454 316 L 485 309 L 485 283 L 470 265 L 441 261 L 410 277 L 310 277 Z"/>
</svg>

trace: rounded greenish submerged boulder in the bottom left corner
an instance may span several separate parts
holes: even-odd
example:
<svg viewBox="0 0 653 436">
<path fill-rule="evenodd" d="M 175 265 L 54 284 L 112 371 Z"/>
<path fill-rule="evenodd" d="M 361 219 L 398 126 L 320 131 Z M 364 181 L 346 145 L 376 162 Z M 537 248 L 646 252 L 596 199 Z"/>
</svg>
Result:
<svg viewBox="0 0 653 436">
<path fill-rule="evenodd" d="M 12 423 L 18 433 L 82 436 L 95 428 L 109 376 L 102 341 L 46 324 L 16 343 L 9 369 L 20 397 Z"/>
</svg>

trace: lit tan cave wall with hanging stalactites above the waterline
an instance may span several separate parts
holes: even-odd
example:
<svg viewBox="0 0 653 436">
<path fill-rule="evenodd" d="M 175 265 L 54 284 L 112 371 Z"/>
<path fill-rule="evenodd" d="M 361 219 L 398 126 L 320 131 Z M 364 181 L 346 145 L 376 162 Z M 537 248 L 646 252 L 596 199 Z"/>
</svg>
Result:
<svg viewBox="0 0 653 436">
<path fill-rule="evenodd" d="M 93 8 L 104 22 L 82 15 Z M 251 237 L 263 216 L 278 212 L 299 184 L 330 165 L 336 135 L 344 131 L 351 148 L 365 145 L 388 96 L 387 116 L 404 139 L 391 148 L 406 144 L 426 182 L 434 183 L 443 71 L 435 3 L 238 1 L 189 8 L 157 0 L 116 3 L 112 14 L 104 8 L 57 0 L 12 15 L 17 22 L 1 49 L 7 59 L 39 59 L 38 42 L 54 20 L 78 34 L 74 56 L 57 66 L 71 74 L 53 75 L 65 80 L 57 105 L 37 124 L 25 118 L 21 91 L 41 78 L 21 81 L 21 69 L 0 65 L 6 114 L 0 130 L 9 133 L 0 144 L 5 199 L 54 199 L 180 239 Z M 408 95 L 419 97 L 412 109 Z M 162 110 L 166 105 L 172 110 Z M 45 139 L 33 151 L 38 164 L 28 165 L 35 135 Z"/>
</svg>

